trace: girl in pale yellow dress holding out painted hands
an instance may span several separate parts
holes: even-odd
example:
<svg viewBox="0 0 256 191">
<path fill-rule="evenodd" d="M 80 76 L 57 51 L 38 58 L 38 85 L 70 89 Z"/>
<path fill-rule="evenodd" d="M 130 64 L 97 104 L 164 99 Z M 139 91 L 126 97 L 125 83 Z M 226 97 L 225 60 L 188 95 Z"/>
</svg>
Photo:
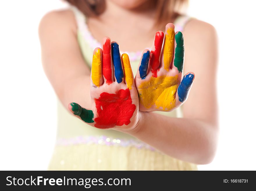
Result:
<svg viewBox="0 0 256 191">
<path fill-rule="evenodd" d="M 184 0 L 67 1 L 69 9 L 47 13 L 39 26 L 58 96 L 49 170 L 210 163 L 218 138 L 214 27 L 179 14 Z"/>
</svg>

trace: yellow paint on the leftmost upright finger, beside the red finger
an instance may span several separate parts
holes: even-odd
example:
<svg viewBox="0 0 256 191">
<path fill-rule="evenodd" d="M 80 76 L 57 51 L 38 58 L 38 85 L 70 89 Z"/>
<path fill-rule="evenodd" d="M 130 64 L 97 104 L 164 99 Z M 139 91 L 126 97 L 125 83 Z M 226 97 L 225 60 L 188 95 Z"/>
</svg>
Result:
<svg viewBox="0 0 256 191">
<path fill-rule="evenodd" d="M 97 49 L 93 54 L 93 63 L 92 63 L 92 80 L 94 85 L 99 87 L 100 79 L 102 78 L 102 69 L 101 69 L 101 59 L 100 59 L 100 49 Z"/>
</svg>

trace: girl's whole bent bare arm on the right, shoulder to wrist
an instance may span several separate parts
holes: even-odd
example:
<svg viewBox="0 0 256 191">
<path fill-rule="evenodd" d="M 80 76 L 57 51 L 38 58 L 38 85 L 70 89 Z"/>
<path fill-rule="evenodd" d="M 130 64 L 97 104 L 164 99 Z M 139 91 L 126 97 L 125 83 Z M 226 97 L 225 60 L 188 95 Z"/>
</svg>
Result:
<svg viewBox="0 0 256 191">
<path fill-rule="evenodd" d="M 192 20 L 183 34 L 184 73 L 196 74 L 182 106 L 184 118 L 143 112 L 137 128 L 127 133 L 175 158 L 207 164 L 214 158 L 218 138 L 216 32 L 211 25 Z"/>
</svg>

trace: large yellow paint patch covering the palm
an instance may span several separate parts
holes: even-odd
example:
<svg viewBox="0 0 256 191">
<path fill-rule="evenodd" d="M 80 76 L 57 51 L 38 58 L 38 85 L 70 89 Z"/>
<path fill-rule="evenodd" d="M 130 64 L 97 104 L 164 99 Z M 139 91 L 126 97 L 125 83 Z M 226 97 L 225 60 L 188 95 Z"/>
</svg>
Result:
<svg viewBox="0 0 256 191">
<path fill-rule="evenodd" d="M 145 108 L 155 105 L 157 109 L 169 111 L 175 107 L 177 88 L 178 75 L 151 77 L 138 87 L 140 101 Z"/>
</svg>

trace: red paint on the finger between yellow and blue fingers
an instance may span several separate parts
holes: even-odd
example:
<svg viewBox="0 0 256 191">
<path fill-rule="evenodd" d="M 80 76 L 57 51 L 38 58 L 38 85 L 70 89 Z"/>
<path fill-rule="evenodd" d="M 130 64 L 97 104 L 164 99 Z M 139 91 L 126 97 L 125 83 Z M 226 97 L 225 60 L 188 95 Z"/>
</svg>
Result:
<svg viewBox="0 0 256 191">
<path fill-rule="evenodd" d="M 106 79 L 106 83 L 109 85 L 112 83 L 112 71 L 111 71 L 111 57 L 110 57 L 110 40 L 107 39 L 103 44 L 102 49 L 102 74 Z"/>
</svg>

